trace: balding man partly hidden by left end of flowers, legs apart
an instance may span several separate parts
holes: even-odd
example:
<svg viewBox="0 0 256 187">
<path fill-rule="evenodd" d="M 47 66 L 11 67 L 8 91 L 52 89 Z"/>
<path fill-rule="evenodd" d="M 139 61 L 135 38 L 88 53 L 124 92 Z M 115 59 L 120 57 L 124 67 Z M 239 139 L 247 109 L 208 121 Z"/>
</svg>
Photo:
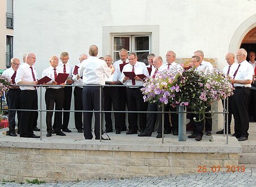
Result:
<svg viewBox="0 0 256 187">
<path fill-rule="evenodd" d="M 156 56 L 153 59 L 153 64 L 155 66 L 154 71 L 151 72 L 151 78 L 155 78 L 156 74 L 160 74 L 161 71 L 164 70 L 164 65 L 163 65 L 163 59 L 160 56 Z M 148 103 L 147 106 L 147 111 L 148 112 L 161 112 L 162 107 L 159 107 L 159 103 Z M 156 121 L 156 116 L 158 116 L 158 136 L 157 137 L 162 137 L 162 113 L 147 113 L 147 125 L 143 133 L 138 134 L 138 137 L 151 137 L 152 131 L 154 130 L 154 125 Z M 160 135 L 159 135 L 160 134 Z"/>
</svg>

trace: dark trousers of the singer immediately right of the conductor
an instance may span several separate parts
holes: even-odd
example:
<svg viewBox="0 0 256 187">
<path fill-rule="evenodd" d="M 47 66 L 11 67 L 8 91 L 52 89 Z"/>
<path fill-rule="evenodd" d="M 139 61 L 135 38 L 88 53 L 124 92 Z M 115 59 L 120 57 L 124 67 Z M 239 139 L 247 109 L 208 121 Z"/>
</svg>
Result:
<svg viewBox="0 0 256 187">
<path fill-rule="evenodd" d="M 117 87 L 104 87 L 104 111 L 112 111 L 112 104 L 114 111 L 118 111 L 118 88 Z M 121 113 L 114 112 L 115 117 L 115 129 L 121 130 L 120 116 Z M 106 112 L 105 115 L 105 127 L 106 129 L 113 129 L 111 113 Z"/>
</svg>

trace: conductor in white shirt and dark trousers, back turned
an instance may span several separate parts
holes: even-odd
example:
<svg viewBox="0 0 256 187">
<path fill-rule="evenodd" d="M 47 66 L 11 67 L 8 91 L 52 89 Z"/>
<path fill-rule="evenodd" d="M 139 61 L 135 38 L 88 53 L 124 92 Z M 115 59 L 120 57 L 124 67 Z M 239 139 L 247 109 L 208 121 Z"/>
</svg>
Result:
<svg viewBox="0 0 256 187">
<path fill-rule="evenodd" d="M 89 48 L 89 58 L 82 61 L 78 70 L 77 77 L 82 76 L 82 82 L 85 85 L 82 90 L 82 106 L 83 111 L 100 111 L 100 99 L 103 105 L 103 91 L 100 98 L 100 85 L 105 85 L 105 75 L 107 78 L 114 72 L 110 69 L 105 61 L 97 58 L 98 47 L 91 45 Z M 99 86 L 86 86 L 99 85 Z M 103 106 L 101 105 L 101 109 Z M 84 137 L 92 139 L 92 112 L 84 112 Z M 95 139 L 100 139 L 100 113 L 94 113 L 94 133 Z M 104 139 L 104 138 L 102 138 Z"/>
</svg>

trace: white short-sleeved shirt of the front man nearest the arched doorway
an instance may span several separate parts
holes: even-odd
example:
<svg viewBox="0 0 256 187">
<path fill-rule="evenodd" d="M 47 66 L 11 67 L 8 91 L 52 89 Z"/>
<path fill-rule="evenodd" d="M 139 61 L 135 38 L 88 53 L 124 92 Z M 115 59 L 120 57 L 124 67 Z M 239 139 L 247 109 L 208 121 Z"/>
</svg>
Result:
<svg viewBox="0 0 256 187">
<path fill-rule="evenodd" d="M 254 69 L 253 66 L 251 66 L 250 63 L 248 63 L 246 60 L 242 61 L 241 66 L 239 67 L 236 76 L 234 77 L 235 80 L 253 80 L 254 75 Z M 239 64 L 238 64 L 239 65 Z M 251 84 L 238 84 L 234 83 L 234 87 L 236 86 L 245 86 L 245 87 L 251 87 Z"/>
</svg>

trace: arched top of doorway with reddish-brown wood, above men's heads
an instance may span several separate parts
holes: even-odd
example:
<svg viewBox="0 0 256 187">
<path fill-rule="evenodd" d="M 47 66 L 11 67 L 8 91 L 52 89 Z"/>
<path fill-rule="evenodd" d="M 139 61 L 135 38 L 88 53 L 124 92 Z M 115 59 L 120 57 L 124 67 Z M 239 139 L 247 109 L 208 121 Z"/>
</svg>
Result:
<svg viewBox="0 0 256 187">
<path fill-rule="evenodd" d="M 245 35 L 245 37 L 243 37 L 240 48 L 245 49 L 248 53 L 249 52 L 256 52 L 256 27 L 251 29 Z M 247 61 L 249 61 L 248 58 L 247 58 Z"/>
</svg>

